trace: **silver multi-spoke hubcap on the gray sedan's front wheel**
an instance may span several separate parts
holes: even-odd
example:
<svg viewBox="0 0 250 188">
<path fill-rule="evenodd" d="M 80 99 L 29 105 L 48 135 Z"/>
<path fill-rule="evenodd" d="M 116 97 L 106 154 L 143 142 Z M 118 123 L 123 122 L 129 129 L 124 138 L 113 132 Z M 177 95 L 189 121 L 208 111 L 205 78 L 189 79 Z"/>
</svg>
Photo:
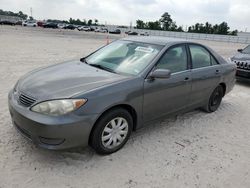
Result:
<svg viewBox="0 0 250 188">
<path fill-rule="evenodd" d="M 106 124 L 102 132 L 102 145 L 113 149 L 123 143 L 128 134 L 128 122 L 122 117 L 112 119 Z"/>
</svg>

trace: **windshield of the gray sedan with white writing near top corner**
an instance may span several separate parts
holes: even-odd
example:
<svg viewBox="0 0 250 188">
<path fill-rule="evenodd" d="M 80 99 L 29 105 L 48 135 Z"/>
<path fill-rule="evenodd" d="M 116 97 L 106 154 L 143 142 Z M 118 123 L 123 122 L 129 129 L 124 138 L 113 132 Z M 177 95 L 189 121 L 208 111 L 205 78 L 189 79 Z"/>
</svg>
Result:
<svg viewBox="0 0 250 188">
<path fill-rule="evenodd" d="M 86 58 L 89 65 L 110 72 L 138 75 L 163 46 L 133 41 L 115 41 Z"/>
</svg>

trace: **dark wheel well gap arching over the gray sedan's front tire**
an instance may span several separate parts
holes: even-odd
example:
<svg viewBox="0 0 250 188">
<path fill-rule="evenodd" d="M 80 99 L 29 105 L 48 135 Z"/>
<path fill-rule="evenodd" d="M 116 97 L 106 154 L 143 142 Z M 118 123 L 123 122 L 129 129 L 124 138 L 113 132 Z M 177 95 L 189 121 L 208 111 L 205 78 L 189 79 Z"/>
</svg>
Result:
<svg viewBox="0 0 250 188">
<path fill-rule="evenodd" d="M 96 123 L 99 121 L 99 119 L 100 119 L 105 113 L 107 113 L 107 112 L 109 112 L 109 111 L 111 111 L 111 110 L 114 110 L 114 109 L 116 109 L 116 108 L 123 108 L 123 109 L 127 110 L 127 111 L 130 113 L 130 115 L 132 116 L 132 119 L 133 119 L 133 129 L 132 129 L 132 130 L 134 131 L 134 130 L 136 129 L 136 124 L 137 124 L 137 113 L 136 113 L 135 109 L 134 109 L 132 106 L 128 105 L 128 104 L 116 105 L 116 106 L 113 106 L 113 107 L 111 107 L 111 108 L 105 110 L 105 111 L 98 117 L 98 119 L 96 120 L 94 126 L 93 126 L 92 129 L 91 129 L 90 136 L 89 136 L 89 141 L 90 141 L 90 138 L 91 138 L 91 136 L 92 136 L 92 132 L 93 132 L 93 130 L 95 129 L 95 125 L 96 125 Z"/>
</svg>

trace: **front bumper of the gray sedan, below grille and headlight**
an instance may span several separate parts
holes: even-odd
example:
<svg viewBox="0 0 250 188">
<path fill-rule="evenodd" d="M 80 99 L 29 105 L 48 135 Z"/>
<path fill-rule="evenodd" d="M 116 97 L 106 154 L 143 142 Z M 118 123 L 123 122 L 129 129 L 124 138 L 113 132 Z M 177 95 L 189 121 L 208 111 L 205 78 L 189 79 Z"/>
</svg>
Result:
<svg viewBox="0 0 250 188">
<path fill-rule="evenodd" d="M 28 140 L 46 149 L 67 149 L 87 146 L 91 129 L 98 114 L 79 116 L 47 116 L 18 104 L 10 91 L 9 111 L 15 128 Z"/>
</svg>

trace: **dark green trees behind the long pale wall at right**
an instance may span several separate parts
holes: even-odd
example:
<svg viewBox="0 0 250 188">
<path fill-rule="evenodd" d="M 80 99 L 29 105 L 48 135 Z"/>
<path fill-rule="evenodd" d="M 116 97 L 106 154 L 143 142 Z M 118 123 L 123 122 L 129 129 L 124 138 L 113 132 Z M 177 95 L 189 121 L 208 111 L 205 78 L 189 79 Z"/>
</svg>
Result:
<svg viewBox="0 0 250 188">
<path fill-rule="evenodd" d="M 184 32 L 182 26 L 178 26 L 171 18 L 168 12 L 165 12 L 159 20 L 144 22 L 143 20 L 136 20 L 137 29 L 150 29 L 150 30 L 164 30 L 164 31 L 177 31 Z M 230 27 L 227 22 L 212 25 L 209 22 L 196 23 L 189 26 L 187 32 L 190 33 L 206 33 L 206 34 L 220 34 L 220 35 L 237 35 L 238 31 L 229 31 Z"/>
</svg>

